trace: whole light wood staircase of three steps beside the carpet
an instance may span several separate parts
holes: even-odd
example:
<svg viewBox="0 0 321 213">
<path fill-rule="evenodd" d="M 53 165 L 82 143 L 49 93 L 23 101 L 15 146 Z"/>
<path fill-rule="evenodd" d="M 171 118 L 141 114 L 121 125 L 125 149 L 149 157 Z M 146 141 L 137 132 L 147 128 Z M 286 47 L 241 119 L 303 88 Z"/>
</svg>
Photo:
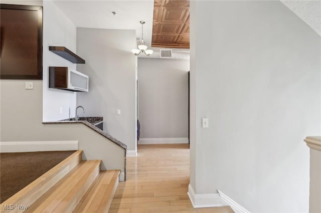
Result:
<svg viewBox="0 0 321 213">
<path fill-rule="evenodd" d="M 108 212 L 119 170 L 100 170 L 101 160 L 82 160 L 78 150 L 12 197 L 1 212 Z"/>
</svg>

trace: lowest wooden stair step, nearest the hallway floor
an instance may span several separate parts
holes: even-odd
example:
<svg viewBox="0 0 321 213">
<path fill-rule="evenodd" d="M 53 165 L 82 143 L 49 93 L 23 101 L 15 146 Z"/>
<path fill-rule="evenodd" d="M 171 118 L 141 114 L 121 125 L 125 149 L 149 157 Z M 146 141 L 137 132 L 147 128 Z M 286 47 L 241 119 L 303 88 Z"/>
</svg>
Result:
<svg viewBox="0 0 321 213">
<path fill-rule="evenodd" d="M 103 170 L 82 197 L 73 213 L 108 212 L 115 194 L 120 170 Z"/>
</svg>

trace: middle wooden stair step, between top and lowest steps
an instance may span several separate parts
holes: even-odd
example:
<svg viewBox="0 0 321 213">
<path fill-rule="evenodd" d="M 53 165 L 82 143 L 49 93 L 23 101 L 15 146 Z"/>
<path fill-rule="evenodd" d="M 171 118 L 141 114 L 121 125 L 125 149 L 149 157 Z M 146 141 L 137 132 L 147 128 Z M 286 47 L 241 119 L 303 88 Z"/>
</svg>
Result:
<svg viewBox="0 0 321 213">
<path fill-rule="evenodd" d="M 72 212 L 97 177 L 101 160 L 81 161 L 25 212 Z"/>
</svg>

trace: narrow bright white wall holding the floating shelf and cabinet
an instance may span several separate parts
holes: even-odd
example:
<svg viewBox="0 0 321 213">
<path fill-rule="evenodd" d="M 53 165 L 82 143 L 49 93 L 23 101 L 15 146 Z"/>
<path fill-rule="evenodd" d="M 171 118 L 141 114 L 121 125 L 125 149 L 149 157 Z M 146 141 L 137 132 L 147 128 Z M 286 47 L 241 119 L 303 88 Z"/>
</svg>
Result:
<svg viewBox="0 0 321 213">
<path fill-rule="evenodd" d="M 49 46 L 65 46 L 77 53 L 76 26 L 51 0 L 44 1 L 43 11 L 43 120 L 75 117 L 76 92 L 49 88 L 49 66 L 76 69 L 76 64 L 49 51 Z"/>
</svg>

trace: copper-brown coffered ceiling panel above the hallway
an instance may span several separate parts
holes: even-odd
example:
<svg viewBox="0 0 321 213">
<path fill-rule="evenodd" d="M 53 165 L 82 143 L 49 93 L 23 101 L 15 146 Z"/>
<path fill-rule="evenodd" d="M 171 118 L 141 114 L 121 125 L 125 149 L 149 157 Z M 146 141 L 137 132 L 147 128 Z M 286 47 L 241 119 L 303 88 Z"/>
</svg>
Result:
<svg viewBox="0 0 321 213">
<path fill-rule="evenodd" d="M 190 48 L 189 0 L 154 0 L 151 46 Z"/>
</svg>

